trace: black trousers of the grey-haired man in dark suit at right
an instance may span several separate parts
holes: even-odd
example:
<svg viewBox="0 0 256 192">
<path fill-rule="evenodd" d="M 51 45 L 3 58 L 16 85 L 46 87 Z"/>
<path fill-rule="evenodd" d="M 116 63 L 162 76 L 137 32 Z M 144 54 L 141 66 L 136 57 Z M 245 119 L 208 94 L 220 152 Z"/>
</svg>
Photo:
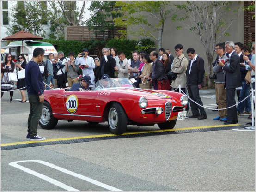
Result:
<svg viewBox="0 0 256 192">
<path fill-rule="evenodd" d="M 236 104 L 235 91 L 236 91 L 236 88 L 226 89 L 227 108 Z M 231 120 L 231 121 L 238 120 L 237 106 L 236 105 L 232 108 L 227 109 L 227 120 Z"/>
</svg>

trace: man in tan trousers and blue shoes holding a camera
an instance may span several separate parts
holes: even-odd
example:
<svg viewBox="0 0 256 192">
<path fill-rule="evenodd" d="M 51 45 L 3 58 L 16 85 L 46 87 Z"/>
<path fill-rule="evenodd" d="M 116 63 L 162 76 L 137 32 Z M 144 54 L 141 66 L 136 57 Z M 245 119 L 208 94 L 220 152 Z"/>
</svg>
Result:
<svg viewBox="0 0 256 192">
<path fill-rule="evenodd" d="M 224 87 L 225 84 L 225 71 L 223 67 L 219 66 L 219 60 L 226 63 L 228 57 L 224 53 L 225 45 L 223 43 L 218 43 L 215 46 L 215 53 L 219 56 L 215 66 L 213 67 L 214 75 L 210 76 L 210 79 L 215 79 L 215 93 L 216 93 L 216 102 L 218 103 L 218 109 L 226 108 L 226 89 Z M 227 120 L 227 109 L 218 110 L 219 116 L 214 118 L 213 120 Z"/>
</svg>

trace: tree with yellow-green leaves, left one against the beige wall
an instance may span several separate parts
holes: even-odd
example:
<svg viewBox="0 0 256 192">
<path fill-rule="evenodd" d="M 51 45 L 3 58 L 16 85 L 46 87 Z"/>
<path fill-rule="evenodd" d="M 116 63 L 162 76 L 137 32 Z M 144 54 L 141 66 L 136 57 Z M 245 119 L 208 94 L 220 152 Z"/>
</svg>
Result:
<svg viewBox="0 0 256 192">
<path fill-rule="evenodd" d="M 134 36 L 154 38 L 158 41 L 158 48 L 162 48 L 165 21 L 169 18 L 175 21 L 179 11 L 175 6 L 172 8 L 171 1 L 116 1 L 116 7 L 121 7 L 116 12 L 123 14 L 114 19 L 116 26 L 130 27 L 127 32 Z M 155 31 L 158 31 L 158 36 L 153 34 Z M 125 31 L 121 32 L 126 35 Z"/>
</svg>

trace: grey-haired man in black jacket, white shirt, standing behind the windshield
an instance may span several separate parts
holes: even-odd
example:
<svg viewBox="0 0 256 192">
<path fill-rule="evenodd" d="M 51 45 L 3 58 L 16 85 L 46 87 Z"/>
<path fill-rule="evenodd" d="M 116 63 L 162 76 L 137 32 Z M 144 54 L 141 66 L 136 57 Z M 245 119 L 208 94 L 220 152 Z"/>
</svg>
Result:
<svg viewBox="0 0 256 192">
<path fill-rule="evenodd" d="M 104 74 L 108 74 L 110 78 L 114 78 L 116 61 L 113 57 L 109 54 L 108 48 L 102 49 L 103 57 L 101 59 L 101 76 Z"/>
</svg>

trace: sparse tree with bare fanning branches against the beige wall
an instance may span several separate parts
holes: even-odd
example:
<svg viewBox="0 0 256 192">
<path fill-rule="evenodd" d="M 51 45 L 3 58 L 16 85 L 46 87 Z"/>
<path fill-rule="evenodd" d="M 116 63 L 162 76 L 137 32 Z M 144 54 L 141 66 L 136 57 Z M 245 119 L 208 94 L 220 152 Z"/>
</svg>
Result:
<svg viewBox="0 0 256 192">
<path fill-rule="evenodd" d="M 208 76 L 213 74 L 212 62 L 215 45 L 221 42 L 223 36 L 229 36 L 227 30 L 240 14 L 239 7 L 237 7 L 233 11 L 234 17 L 228 21 L 230 23 L 224 20 L 226 14 L 231 14 L 229 8 L 231 3 L 231 1 L 186 1 L 184 4 L 176 5 L 185 13 L 185 17 L 180 18 L 183 26 L 190 30 L 205 48 L 208 60 Z M 185 22 L 186 19 L 189 22 Z M 177 29 L 180 28 L 182 26 L 177 26 Z M 208 87 L 212 87 L 212 81 L 209 78 Z"/>
</svg>

